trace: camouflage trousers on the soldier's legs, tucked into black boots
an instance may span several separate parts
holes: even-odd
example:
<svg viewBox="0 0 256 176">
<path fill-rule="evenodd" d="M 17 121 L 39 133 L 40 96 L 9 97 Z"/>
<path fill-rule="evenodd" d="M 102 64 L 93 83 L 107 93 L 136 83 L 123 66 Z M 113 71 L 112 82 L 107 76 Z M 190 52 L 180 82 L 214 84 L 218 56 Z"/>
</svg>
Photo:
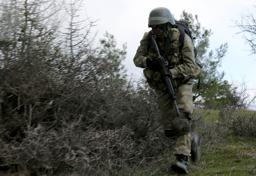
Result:
<svg viewBox="0 0 256 176">
<path fill-rule="evenodd" d="M 178 118 L 181 120 L 181 126 L 189 127 L 188 120 L 190 119 L 190 115 L 193 112 L 193 96 L 192 96 L 192 87 L 193 87 L 193 79 L 189 79 L 185 83 L 182 83 L 176 89 L 176 101 L 178 105 L 178 109 L 182 114 L 186 114 L 187 118 Z M 174 147 L 174 155 L 190 155 L 191 150 L 191 140 L 192 137 L 190 132 L 186 133 L 175 133 L 175 127 L 179 124 L 174 123 L 175 118 L 177 118 L 176 109 L 174 107 L 173 100 L 169 96 L 167 91 L 162 91 L 155 89 L 155 92 L 158 95 L 158 106 L 160 111 L 160 120 L 164 125 L 165 131 L 174 132 L 174 136 L 177 137 L 177 141 Z M 176 130 L 177 132 L 177 130 Z"/>
</svg>

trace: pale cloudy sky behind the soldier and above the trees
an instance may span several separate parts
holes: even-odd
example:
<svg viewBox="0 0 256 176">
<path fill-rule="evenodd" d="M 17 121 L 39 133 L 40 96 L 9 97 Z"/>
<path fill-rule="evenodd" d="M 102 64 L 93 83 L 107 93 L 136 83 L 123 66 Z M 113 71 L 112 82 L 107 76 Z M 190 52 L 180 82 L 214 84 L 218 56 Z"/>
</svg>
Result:
<svg viewBox="0 0 256 176">
<path fill-rule="evenodd" d="M 135 79 L 142 76 L 141 68 L 135 67 L 133 57 L 147 26 L 149 13 L 156 7 L 166 7 L 179 19 L 183 10 L 198 15 L 201 26 L 211 29 L 210 50 L 215 51 L 221 44 L 228 43 L 228 51 L 218 69 L 224 71 L 224 79 L 237 85 L 245 82 L 251 94 L 256 92 L 256 55 L 251 55 L 250 47 L 234 21 L 241 22 L 241 16 L 253 12 L 256 17 L 256 0 L 84 0 L 82 15 L 98 20 L 92 33 L 97 32 L 96 40 L 103 34 L 115 36 L 117 47 L 127 45 L 127 56 L 123 64 L 128 75 Z"/>
</svg>

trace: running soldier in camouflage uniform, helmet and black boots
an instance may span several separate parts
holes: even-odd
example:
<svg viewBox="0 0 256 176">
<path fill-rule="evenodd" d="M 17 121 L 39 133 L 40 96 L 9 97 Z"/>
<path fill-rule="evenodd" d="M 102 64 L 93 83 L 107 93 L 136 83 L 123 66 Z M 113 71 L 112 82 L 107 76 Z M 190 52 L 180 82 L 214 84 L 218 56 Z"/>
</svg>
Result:
<svg viewBox="0 0 256 176">
<path fill-rule="evenodd" d="M 189 127 L 190 115 L 193 112 L 193 79 L 200 71 L 195 62 L 194 45 L 191 38 L 185 34 L 183 47 L 179 51 L 180 31 L 175 27 L 175 20 L 167 8 L 153 9 L 149 14 L 148 26 L 152 30 L 145 32 L 133 61 L 136 67 L 145 68 L 143 74 L 147 83 L 158 95 L 160 120 L 165 135 L 177 137 L 174 146 L 176 160 L 171 168 L 177 173 L 188 173 L 188 157 L 191 156 L 195 163 L 199 163 L 201 159 L 200 138 L 197 134 L 191 135 Z M 172 75 L 181 117 L 178 116 L 164 84 L 157 53 L 150 44 L 151 35 L 154 35 L 161 55 L 169 62 L 168 71 Z"/>
</svg>

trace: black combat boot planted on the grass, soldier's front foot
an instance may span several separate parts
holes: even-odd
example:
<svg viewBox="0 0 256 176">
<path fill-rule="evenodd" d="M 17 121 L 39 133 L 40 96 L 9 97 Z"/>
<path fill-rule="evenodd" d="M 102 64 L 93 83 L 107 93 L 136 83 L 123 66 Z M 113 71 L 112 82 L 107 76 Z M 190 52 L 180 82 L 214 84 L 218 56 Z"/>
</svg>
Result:
<svg viewBox="0 0 256 176">
<path fill-rule="evenodd" d="M 175 155 L 176 161 L 171 166 L 171 169 L 177 173 L 188 174 L 188 156 L 185 155 Z"/>
</svg>

